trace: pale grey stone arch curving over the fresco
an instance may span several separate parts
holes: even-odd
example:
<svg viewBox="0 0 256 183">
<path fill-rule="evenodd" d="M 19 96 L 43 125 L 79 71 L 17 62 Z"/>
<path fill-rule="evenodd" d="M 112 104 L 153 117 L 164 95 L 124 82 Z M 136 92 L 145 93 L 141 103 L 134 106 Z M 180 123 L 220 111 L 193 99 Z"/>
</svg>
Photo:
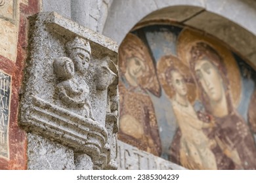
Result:
<svg viewBox="0 0 256 183">
<path fill-rule="evenodd" d="M 221 39 L 256 67 L 256 2 L 245 1 L 114 1 L 103 34 L 121 44 L 136 24 L 171 20 Z M 124 24 L 125 22 L 125 24 Z"/>
</svg>

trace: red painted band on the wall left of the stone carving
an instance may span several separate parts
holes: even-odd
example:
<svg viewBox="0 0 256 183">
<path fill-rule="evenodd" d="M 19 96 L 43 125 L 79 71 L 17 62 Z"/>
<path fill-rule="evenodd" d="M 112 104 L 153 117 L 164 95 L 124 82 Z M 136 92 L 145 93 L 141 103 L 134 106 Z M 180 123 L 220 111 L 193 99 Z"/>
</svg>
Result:
<svg viewBox="0 0 256 183">
<path fill-rule="evenodd" d="M 27 169 L 26 132 L 18 126 L 19 91 L 22 85 L 23 69 L 28 48 L 28 16 L 40 10 L 39 0 L 29 0 L 28 5 L 20 4 L 20 24 L 16 62 L 0 55 L 0 70 L 12 76 L 11 107 L 9 122 L 10 159 L 0 158 L 0 169 Z"/>
</svg>

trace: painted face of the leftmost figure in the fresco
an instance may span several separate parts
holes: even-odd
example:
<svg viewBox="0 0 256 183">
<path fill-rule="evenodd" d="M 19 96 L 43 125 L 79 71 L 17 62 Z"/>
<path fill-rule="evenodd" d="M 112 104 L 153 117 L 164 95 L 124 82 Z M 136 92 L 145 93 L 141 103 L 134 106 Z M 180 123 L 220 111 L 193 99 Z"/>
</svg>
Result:
<svg viewBox="0 0 256 183">
<path fill-rule="evenodd" d="M 133 78 L 139 78 L 142 76 L 143 71 L 146 69 L 143 61 L 140 58 L 130 58 L 127 60 L 127 72 Z"/>
</svg>

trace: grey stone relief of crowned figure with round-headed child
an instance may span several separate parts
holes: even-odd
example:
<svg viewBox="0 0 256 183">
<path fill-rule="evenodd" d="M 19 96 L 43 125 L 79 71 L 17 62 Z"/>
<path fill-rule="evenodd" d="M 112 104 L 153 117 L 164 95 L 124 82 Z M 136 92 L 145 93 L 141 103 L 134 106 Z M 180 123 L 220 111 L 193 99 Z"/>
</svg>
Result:
<svg viewBox="0 0 256 183">
<path fill-rule="evenodd" d="M 89 86 L 82 79 L 89 67 L 90 44 L 75 37 L 74 41 L 68 42 L 66 47 L 70 58 L 56 58 L 53 63 L 54 72 L 61 80 L 57 86 L 58 97 L 68 107 L 84 107 L 85 116 L 93 118 L 91 103 L 88 101 Z"/>
</svg>

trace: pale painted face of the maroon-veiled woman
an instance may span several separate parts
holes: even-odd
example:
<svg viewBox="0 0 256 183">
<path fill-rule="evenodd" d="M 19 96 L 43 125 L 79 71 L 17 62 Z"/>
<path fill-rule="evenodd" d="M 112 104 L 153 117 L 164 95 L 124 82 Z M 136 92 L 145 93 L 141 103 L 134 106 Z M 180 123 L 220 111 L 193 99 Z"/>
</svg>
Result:
<svg viewBox="0 0 256 183">
<path fill-rule="evenodd" d="M 196 62 L 196 77 L 211 101 L 219 102 L 223 98 L 223 82 L 217 68 L 207 59 Z"/>
</svg>

